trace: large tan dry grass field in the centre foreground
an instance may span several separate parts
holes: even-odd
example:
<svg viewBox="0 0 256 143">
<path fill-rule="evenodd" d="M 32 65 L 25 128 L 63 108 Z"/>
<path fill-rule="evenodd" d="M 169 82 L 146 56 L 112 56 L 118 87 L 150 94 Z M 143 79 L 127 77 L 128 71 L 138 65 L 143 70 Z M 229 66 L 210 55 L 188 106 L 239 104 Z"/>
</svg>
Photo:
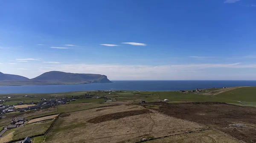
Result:
<svg viewBox="0 0 256 143">
<path fill-rule="evenodd" d="M 114 117 L 119 112 L 137 110 L 145 110 L 145 108 L 137 105 L 120 105 L 66 113 L 58 119 L 47 134 L 46 142 L 134 143 L 142 138 L 150 139 L 205 129 L 204 126 L 197 123 L 172 118 L 158 112 L 131 115 L 118 119 Z M 112 117 L 113 120 L 99 123 L 87 122 L 100 116 Z"/>
</svg>

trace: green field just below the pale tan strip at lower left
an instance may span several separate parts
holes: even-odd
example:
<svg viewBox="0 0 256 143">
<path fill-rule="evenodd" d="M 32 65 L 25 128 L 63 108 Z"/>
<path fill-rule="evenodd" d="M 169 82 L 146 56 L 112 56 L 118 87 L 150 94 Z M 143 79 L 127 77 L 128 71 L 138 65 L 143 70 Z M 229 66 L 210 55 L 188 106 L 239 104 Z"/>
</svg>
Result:
<svg viewBox="0 0 256 143">
<path fill-rule="evenodd" d="M 19 127 L 14 132 L 14 136 L 12 137 L 13 140 L 23 139 L 27 136 L 32 137 L 36 135 L 44 134 L 52 122 L 48 123 L 32 123 L 27 124 L 24 127 Z"/>
</svg>

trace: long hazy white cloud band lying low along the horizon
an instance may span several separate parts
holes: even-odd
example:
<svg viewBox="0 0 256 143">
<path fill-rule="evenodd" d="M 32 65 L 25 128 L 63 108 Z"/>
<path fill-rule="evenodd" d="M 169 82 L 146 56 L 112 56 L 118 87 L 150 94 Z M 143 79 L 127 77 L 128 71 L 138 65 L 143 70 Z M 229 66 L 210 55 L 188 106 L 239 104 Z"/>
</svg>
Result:
<svg viewBox="0 0 256 143">
<path fill-rule="evenodd" d="M 44 73 L 49 70 L 58 70 L 70 73 L 99 73 L 107 75 L 111 80 L 166 80 L 166 79 L 216 79 L 215 71 L 229 70 L 232 68 L 253 68 L 256 64 L 171 64 L 171 65 L 122 65 L 122 64 L 58 64 L 51 69 L 41 68 Z M 233 70 L 235 71 L 235 70 Z M 224 78 L 231 73 L 224 73 Z M 204 74 L 204 76 L 202 75 Z M 256 74 L 255 74 L 256 75 Z M 218 75 L 217 75 L 218 76 Z M 256 77 L 256 76 L 255 76 Z M 230 78 L 232 79 L 232 78 Z"/>
</svg>

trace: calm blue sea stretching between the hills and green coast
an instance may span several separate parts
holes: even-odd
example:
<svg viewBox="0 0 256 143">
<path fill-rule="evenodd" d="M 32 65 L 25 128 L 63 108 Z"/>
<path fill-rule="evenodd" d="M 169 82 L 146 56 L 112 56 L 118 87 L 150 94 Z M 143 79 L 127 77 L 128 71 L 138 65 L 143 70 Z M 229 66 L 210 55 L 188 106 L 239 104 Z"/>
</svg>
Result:
<svg viewBox="0 0 256 143">
<path fill-rule="evenodd" d="M 79 85 L 0 86 L 0 94 L 62 93 L 84 90 L 172 91 L 237 86 L 256 86 L 256 81 L 113 81 L 113 83 Z"/>
</svg>

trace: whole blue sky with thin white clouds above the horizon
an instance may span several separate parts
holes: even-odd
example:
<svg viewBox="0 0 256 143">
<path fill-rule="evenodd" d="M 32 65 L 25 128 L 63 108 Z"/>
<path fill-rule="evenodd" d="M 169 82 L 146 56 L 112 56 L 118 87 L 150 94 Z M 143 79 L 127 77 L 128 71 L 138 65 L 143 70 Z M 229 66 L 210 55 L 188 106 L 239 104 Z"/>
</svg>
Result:
<svg viewBox="0 0 256 143">
<path fill-rule="evenodd" d="M 6 0 L 0 72 L 256 80 L 255 0 Z"/>
</svg>

